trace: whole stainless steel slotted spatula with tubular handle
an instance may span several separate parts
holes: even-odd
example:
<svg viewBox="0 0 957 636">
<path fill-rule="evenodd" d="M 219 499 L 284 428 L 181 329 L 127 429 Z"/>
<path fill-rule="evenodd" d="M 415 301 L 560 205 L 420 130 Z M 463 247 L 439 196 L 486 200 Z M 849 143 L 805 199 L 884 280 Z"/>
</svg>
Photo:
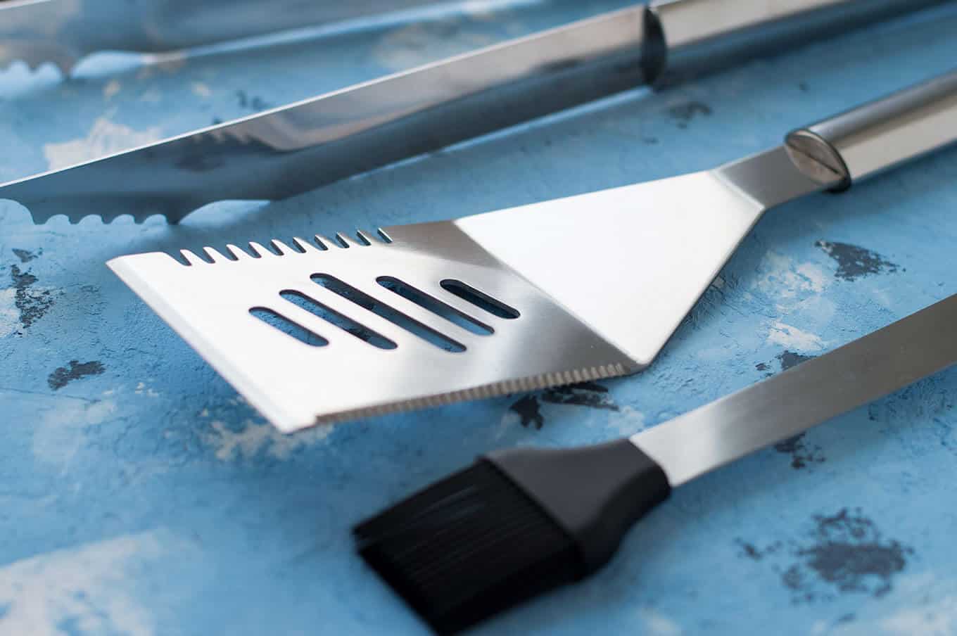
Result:
<svg viewBox="0 0 957 636">
<path fill-rule="evenodd" d="M 765 210 L 954 141 L 957 71 L 714 170 L 281 254 L 109 266 L 293 431 L 640 370 Z"/>
</svg>

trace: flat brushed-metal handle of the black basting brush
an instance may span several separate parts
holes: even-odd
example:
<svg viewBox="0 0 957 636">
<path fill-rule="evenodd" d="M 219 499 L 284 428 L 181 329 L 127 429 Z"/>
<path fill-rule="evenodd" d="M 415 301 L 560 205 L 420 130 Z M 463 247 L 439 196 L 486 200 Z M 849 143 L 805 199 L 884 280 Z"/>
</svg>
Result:
<svg viewBox="0 0 957 636">
<path fill-rule="evenodd" d="M 631 440 L 672 487 L 957 362 L 957 295 Z"/>
</svg>

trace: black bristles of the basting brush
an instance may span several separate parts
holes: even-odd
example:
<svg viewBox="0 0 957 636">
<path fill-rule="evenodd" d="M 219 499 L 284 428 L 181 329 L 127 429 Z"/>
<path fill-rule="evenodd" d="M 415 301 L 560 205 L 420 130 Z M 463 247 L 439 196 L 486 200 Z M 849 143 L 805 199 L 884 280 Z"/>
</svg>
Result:
<svg viewBox="0 0 957 636">
<path fill-rule="evenodd" d="M 572 538 L 486 460 L 354 534 L 363 559 L 440 634 L 582 576 Z"/>
</svg>

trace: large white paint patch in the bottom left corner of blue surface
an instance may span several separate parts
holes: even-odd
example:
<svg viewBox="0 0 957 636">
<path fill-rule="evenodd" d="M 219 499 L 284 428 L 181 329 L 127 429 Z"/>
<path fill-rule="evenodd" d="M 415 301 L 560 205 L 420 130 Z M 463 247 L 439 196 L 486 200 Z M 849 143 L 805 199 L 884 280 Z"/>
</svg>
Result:
<svg viewBox="0 0 957 636">
<path fill-rule="evenodd" d="M 57 550 L 0 568 L 0 633 L 151 636 L 152 620 L 133 597 L 130 570 L 163 556 L 163 532 Z M 69 627 L 69 628 L 68 628 Z"/>
</svg>

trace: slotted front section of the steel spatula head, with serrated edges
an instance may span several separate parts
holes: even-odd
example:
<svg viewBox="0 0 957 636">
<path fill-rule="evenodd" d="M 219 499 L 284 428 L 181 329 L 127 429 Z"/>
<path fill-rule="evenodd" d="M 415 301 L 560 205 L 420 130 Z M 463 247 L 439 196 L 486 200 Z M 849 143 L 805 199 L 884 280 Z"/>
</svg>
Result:
<svg viewBox="0 0 957 636">
<path fill-rule="evenodd" d="M 207 263 L 186 253 L 190 266 L 166 253 L 108 263 L 147 304 L 279 429 L 291 432 L 418 406 L 434 406 L 622 375 L 634 370 L 617 351 L 568 311 L 498 263 L 448 222 L 386 229 L 393 242 L 349 248 L 297 241 L 276 255 L 254 246 L 259 258 L 231 249 L 237 260 L 207 250 Z M 465 345 L 450 353 L 419 340 L 385 318 L 324 289 L 311 274 L 344 280 L 410 318 Z M 376 283 L 395 276 L 495 333 L 479 336 L 438 318 Z M 483 313 L 446 292 L 440 281 L 461 280 L 517 309 L 504 319 Z M 284 300 L 294 290 L 397 343 L 381 350 Z M 272 309 L 329 340 L 312 347 L 250 315 Z"/>
</svg>

